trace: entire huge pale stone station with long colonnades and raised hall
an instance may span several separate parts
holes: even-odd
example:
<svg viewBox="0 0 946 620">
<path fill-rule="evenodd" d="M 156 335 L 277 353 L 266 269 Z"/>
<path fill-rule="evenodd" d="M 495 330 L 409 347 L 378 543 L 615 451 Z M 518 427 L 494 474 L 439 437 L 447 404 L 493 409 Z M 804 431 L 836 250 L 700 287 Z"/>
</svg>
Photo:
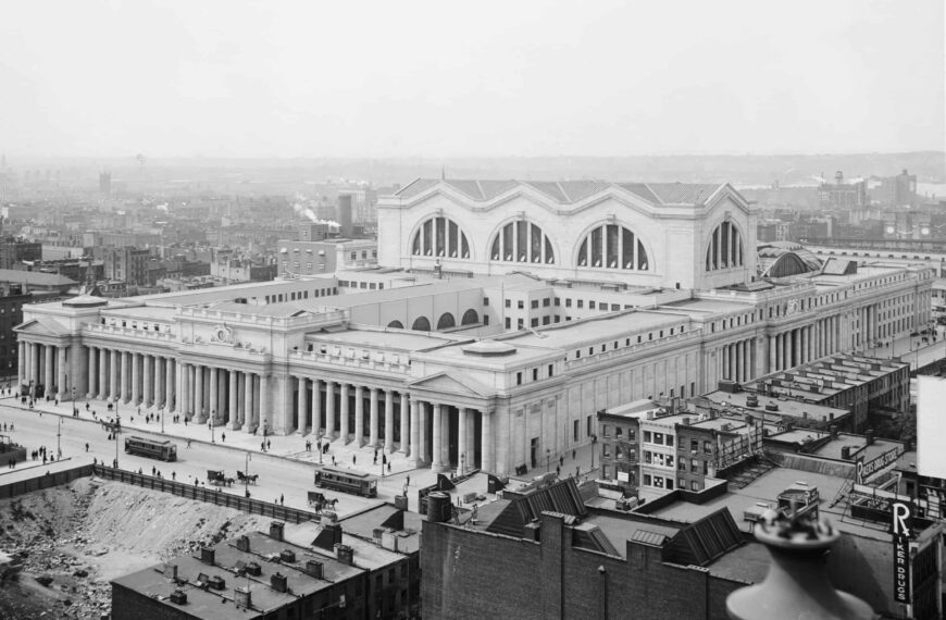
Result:
<svg viewBox="0 0 946 620">
<path fill-rule="evenodd" d="M 729 185 L 418 181 L 377 214 L 378 268 L 26 306 L 21 384 L 508 473 L 588 443 L 601 409 L 930 321 L 923 265 L 761 277 Z"/>
</svg>

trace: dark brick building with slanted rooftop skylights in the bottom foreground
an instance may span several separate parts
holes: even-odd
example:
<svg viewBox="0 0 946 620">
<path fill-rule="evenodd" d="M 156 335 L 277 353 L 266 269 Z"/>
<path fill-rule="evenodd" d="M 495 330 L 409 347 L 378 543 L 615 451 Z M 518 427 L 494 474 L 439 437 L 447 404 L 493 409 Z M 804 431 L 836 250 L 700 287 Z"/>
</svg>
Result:
<svg viewBox="0 0 946 620">
<path fill-rule="evenodd" d="M 682 526 L 589 509 L 572 479 L 507 494 L 459 524 L 445 499 L 423 523 L 425 618 L 723 619 L 747 583 L 705 568 L 743 544 L 725 511 Z"/>
</svg>

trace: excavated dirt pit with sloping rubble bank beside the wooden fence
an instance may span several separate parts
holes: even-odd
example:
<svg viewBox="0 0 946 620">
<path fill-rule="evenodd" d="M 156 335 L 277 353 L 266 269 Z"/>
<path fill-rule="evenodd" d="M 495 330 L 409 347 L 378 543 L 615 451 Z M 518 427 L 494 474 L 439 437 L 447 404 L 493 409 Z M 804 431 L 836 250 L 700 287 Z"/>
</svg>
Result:
<svg viewBox="0 0 946 620">
<path fill-rule="evenodd" d="M 98 479 L 2 500 L 0 554 L 23 563 L 0 582 L 0 620 L 98 620 L 111 607 L 111 579 L 269 521 Z"/>
</svg>

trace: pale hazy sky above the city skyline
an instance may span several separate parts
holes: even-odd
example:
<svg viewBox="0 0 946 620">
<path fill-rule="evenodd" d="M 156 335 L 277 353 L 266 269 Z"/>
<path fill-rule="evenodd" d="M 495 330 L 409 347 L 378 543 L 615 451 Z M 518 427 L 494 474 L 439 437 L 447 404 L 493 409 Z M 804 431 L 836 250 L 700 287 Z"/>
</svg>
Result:
<svg viewBox="0 0 946 620">
<path fill-rule="evenodd" d="M 9 156 L 944 148 L 944 0 L 2 0 Z"/>
</svg>

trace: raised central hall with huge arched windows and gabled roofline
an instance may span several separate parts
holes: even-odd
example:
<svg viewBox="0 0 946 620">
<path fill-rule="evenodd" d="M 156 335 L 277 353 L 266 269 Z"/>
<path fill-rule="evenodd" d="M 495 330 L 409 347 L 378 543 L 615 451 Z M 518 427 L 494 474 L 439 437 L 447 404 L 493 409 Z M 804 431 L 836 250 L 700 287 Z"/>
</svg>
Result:
<svg viewBox="0 0 946 620">
<path fill-rule="evenodd" d="M 377 213 L 378 262 L 409 270 L 667 288 L 756 276 L 758 209 L 727 184 L 418 179 Z"/>
</svg>

